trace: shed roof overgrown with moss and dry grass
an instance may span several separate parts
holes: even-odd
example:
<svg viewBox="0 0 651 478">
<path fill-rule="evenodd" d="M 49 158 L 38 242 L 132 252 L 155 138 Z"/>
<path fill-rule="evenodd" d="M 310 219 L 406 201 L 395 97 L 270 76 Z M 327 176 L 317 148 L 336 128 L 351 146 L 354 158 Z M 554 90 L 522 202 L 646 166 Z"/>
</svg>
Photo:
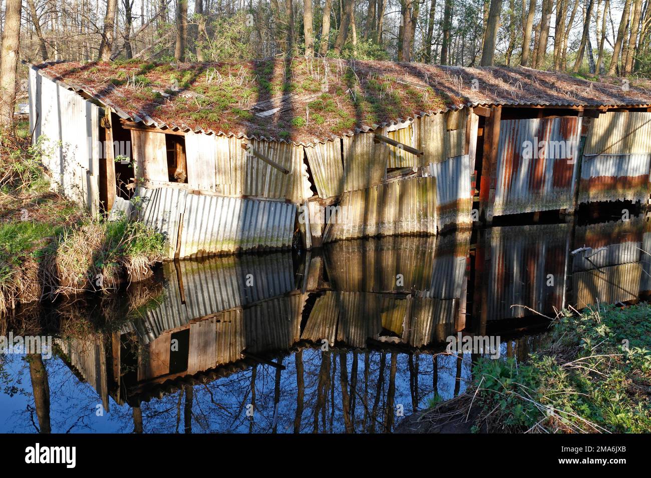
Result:
<svg viewBox="0 0 651 478">
<path fill-rule="evenodd" d="M 637 105 L 642 85 L 529 68 L 336 59 L 44 64 L 48 75 L 159 126 L 312 143 L 469 104 Z M 260 113 L 267 112 L 265 116 Z"/>
</svg>

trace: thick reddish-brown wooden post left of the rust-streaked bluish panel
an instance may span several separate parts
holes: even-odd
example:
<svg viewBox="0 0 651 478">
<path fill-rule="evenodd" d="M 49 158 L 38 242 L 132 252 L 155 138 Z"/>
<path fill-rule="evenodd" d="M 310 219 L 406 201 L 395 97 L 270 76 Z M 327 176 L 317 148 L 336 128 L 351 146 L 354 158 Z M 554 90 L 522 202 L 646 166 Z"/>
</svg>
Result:
<svg viewBox="0 0 651 478">
<path fill-rule="evenodd" d="M 493 222 L 493 204 L 495 202 L 495 185 L 497 183 L 497 145 L 499 144 L 499 126 L 502 107 L 493 106 L 491 116 L 486 118 L 484 127 L 484 157 L 482 159 L 482 178 L 479 188 L 480 217 L 491 224 Z"/>
</svg>

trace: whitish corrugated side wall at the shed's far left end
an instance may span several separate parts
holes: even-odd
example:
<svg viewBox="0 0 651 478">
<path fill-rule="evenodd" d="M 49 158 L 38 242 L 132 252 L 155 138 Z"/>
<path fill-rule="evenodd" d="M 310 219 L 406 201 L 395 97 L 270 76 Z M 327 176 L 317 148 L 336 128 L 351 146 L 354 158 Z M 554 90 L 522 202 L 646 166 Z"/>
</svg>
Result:
<svg viewBox="0 0 651 478">
<path fill-rule="evenodd" d="M 99 212 L 100 107 L 29 69 L 30 131 L 44 137 L 43 165 L 53 189 Z"/>
</svg>

